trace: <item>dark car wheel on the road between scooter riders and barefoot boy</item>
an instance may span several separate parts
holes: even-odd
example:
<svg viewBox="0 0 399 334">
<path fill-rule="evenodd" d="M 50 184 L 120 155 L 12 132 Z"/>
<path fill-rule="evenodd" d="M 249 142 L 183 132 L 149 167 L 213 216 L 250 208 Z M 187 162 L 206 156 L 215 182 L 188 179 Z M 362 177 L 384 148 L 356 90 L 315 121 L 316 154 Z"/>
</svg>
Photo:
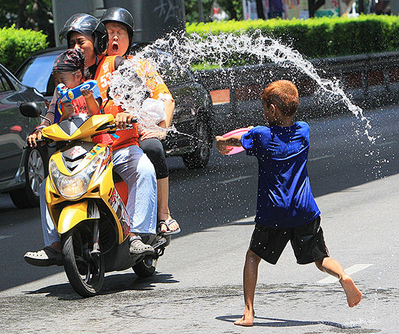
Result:
<svg viewBox="0 0 399 334">
<path fill-rule="evenodd" d="M 194 152 L 185 153 L 182 155 L 183 162 L 187 168 L 204 168 L 208 165 L 210 157 L 210 142 L 211 134 L 208 123 L 200 118 L 197 122 L 197 143 Z"/>
</svg>

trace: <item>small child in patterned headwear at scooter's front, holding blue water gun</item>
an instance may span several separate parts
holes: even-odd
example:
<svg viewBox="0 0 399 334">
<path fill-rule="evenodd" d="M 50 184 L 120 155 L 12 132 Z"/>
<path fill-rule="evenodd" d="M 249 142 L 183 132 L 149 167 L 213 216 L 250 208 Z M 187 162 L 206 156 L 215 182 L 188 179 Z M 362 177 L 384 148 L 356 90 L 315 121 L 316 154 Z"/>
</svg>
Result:
<svg viewBox="0 0 399 334">
<path fill-rule="evenodd" d="M 64 84 L 66 88 L 70 89 L 83 84 L 86 77 L 89 76 L 88 70 L 84 67 L 84 55 L 79 49 L 66 50 L 54 61 L 52 74 L 56 86 Z M 60 102 L 56 104 L 54 122 L 60 122 L 78 113 L 87 113 L 88 115 L 100 113 L 102 98 L 96 85 L 93 90 L 81 89 L 81 96 L 71 102 L 64 102 L 61 106 L 58 106 L 58 103 Z"/>
</svg>

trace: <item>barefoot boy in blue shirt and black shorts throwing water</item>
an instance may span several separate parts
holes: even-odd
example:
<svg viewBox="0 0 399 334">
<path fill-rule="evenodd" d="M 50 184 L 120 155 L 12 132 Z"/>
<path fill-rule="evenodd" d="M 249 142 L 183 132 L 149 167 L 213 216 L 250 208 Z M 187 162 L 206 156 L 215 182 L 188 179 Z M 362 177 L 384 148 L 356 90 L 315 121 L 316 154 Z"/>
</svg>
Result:
<svg viewBox="0 0 399 334">
<path fill-rule="evenodd" d="M 260 260 L 276 264 L 288 240 L 298 264 L 315 262 L 318 269 L 339 279 L 351 308 L 361 300 L 352 278 L 329 257 L 324 243 L 320 210 L 306 169 L 309 126 L 293 121 L 299 104 L 297 87 L 291 81 L 274 81 L 261 97 L 267 127 L 253 127 L 242 136 L 216 137 L 221 154 L 228 153 L 231 146 L 242 146 L 259 164 L 256 226 L 244 265 L 245 309 L 234 323 L 240 326 L 253 325 Z"/>
</svg>

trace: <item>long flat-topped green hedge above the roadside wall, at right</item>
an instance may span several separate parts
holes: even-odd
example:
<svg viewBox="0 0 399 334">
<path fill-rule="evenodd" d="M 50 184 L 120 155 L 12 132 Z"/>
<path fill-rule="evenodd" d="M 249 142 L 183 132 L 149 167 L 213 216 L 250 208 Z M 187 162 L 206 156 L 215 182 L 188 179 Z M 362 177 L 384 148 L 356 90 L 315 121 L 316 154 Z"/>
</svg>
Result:
<svg viewBox="0 0 399 334">
<path fill-rule="evenodd" d="M 253 33 L 279 40 L 307 58 L 367 54 L 399 49 L 399 17 L 360 15 L 312 19 L 258 19 L 187 24 L 187 33 Z M 238 64 L 235 64 L 238 65 Z"/>
</svg>

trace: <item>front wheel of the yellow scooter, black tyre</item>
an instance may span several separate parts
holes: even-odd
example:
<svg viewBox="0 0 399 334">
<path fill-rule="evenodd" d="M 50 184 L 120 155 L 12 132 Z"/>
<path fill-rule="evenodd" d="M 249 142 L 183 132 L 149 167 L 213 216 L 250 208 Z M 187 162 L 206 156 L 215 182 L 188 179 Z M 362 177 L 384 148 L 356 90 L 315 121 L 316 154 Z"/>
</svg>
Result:
<svg viewBox="0 0 399 334">
<path fill-rule="evenodd" d="M 104 282 L 104 257 L 90 255 L 93 234 L 88 225 L 77 225 L 61 236 L 63 265 L 73 289 L 82 297 L 95 296 Z"/>
</svg>

